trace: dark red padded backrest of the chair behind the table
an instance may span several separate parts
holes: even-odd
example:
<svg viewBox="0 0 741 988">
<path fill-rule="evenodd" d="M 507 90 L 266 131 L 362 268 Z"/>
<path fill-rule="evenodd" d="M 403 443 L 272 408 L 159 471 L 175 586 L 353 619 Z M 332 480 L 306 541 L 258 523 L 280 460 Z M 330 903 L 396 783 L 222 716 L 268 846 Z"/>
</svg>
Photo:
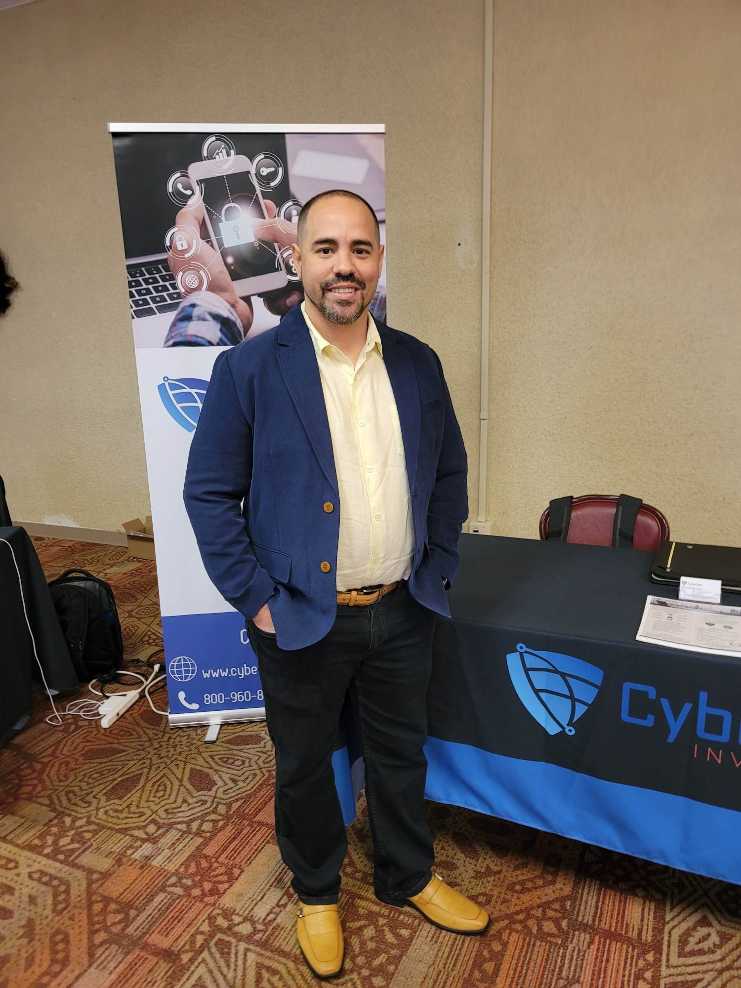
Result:
<svg viewBox="0 0 741 988">
<path fill-rule="evenodd" d="M 583 494 L 575 497 L 571 505 L 571 518 L 566 535 L 567 542 L 586 545 L 613 545 L 613 530 L 617 511 L 615 494 Z M 540 517 L 540 538 L 548 537 L 550 506 Z M 657 549 L 669 538 L 669 523 L 658 508 L 641 504 L 635 518 L 633 548 Z"/>
</svg>

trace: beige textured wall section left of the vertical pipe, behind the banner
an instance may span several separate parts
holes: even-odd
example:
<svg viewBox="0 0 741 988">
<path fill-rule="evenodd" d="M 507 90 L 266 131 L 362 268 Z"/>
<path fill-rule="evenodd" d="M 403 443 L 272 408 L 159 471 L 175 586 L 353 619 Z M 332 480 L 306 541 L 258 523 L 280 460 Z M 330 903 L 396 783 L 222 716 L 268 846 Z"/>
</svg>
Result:
<svg viewBox="0 0 741 988">
<path fill-rule="evenodd" d="M 18 152 L 0 159 L 0 245 L 24 288 L 0 321 L 15 518 L 112 530 L 148 511 L 109 121 L 386 124 L 389 321 L 440 353 L 475 477 L 482 25 L 479 3 L 442 0 L 0 12 Z"/>
</svg>

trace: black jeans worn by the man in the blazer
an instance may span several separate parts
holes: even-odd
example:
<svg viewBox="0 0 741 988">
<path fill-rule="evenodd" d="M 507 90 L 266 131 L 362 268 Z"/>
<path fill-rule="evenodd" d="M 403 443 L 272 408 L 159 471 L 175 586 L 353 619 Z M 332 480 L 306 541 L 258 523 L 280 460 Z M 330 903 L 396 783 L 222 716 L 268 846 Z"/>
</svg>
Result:
<svg viewBox="0 0 741 988">
<path fill-rule="evenodd" d="M 375 886 L 394 898 L 432 877 L 423 810 L 435 614 L 401 581 L 370 606 L 337 606 L 320 641 L 288 651 L 247 620 L 276 748 L 276 834 L 302 902 L 337 902 L 347 851 L 332 752 L 348 689 L 366 765 Z"/>
</svg>

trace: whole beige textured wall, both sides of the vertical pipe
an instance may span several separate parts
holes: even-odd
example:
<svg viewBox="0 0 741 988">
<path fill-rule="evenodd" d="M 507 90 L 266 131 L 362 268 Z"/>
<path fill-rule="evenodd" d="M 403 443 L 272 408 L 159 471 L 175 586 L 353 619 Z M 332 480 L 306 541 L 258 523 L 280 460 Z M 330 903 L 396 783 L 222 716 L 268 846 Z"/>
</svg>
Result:
<svg viewBox="0 0 741 988">
<path fill-rule="evenodd" d="M 476 512 L 482 27 L 479 0 L 0 13 L 18 519 L 112 530 L 148 510 L 106 129 L 147 120 L 387 124 L 389 320 L 441 355 Z M 741 544 L 740 41 L 736 0 L 495 3 L 497 533 L 535 535 L 550 497 L 624 490 L 674 535 Z"/>
</svg>

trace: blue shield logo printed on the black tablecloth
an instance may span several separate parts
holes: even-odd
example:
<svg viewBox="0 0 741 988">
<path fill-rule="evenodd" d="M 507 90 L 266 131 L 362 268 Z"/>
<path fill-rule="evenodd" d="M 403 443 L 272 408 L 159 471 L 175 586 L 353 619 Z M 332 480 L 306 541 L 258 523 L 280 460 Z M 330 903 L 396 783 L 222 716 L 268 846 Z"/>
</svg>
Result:
<svg viewBox="0 0 741 988">
<path fill-rule="evenodd" d="M 574 734 L 574 723 L 602 686 L 597 666 L 561 652 L 534 652 L 522 643 L 507 656 L 515 691 L 548 734 Z"/>
</svg>

